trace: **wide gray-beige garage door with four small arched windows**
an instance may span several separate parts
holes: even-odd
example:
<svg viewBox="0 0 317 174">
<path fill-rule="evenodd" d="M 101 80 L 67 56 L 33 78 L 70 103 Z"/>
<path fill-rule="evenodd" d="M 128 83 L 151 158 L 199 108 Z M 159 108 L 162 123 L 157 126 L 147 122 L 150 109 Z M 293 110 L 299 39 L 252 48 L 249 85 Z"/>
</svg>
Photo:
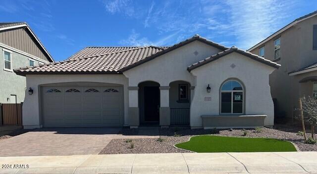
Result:
<svg viewBox="0 0 317 174">
<path fill-rule="evenodd" d="M 42 87 L 44 127 L 122 126 L 122 87 Z"/>
</svg>

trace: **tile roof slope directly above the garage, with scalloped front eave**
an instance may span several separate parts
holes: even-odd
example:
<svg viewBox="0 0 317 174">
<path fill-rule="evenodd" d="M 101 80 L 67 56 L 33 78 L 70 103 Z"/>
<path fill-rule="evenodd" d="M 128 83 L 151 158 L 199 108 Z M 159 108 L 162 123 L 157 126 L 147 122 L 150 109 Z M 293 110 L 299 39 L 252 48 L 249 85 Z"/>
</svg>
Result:
<svg viewBox="0 0 317 174">
<path fill-rule="evenodd" d="M 15 69 L 25 74 L 121 74 L 125 66 L 163 50 L 156 46 L 131 47 L 131 49 L 75 57 L 65 61 Z"/>
</svg>

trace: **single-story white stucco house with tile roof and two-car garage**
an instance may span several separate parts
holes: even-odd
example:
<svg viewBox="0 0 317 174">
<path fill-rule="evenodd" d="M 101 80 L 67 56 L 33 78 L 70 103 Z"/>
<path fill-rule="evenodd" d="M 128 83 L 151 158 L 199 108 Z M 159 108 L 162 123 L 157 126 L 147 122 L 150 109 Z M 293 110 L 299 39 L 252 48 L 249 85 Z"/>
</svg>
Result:
<svg viewBox="0 0 317 174">
<path fill-rule="evenodd" d="M 26 76 L 25 129 L 273 125 L 268 76 L 279 64 L 194 37 L 171 47 L 86 47 Z"/>
</svg>

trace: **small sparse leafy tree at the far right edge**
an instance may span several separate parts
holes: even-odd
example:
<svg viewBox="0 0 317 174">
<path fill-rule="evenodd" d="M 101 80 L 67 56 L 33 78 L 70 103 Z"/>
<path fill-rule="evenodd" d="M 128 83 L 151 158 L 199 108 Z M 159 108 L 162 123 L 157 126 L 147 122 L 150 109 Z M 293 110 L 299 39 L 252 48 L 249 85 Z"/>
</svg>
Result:
<svg viewBox="0 0 317 174">
<path fill-rule="evenodd" d="M 303 104 L 303 112 L 304 119 L 308 122 L 312 127 L 312 138 L 314 139 L 314 130 L 315 126 L 317 125 L 317 99 L 314 99 L 310 96 L 302 97 L 302 104 Z"/>
</svg>

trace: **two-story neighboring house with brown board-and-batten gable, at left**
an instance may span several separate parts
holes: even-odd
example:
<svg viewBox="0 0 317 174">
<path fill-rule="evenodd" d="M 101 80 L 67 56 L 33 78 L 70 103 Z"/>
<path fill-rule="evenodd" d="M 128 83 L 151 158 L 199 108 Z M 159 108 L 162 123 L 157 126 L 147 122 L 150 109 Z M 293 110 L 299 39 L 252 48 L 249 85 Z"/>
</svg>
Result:
<svg viewBox="0 0 317 174">
<path fill-rule="evenodd" d="M 25 22 L 0 23 L 0 59 L 0 103 L 24 100 L 26 78 L 13 69 L 54 62 Z"/>
</svg>

